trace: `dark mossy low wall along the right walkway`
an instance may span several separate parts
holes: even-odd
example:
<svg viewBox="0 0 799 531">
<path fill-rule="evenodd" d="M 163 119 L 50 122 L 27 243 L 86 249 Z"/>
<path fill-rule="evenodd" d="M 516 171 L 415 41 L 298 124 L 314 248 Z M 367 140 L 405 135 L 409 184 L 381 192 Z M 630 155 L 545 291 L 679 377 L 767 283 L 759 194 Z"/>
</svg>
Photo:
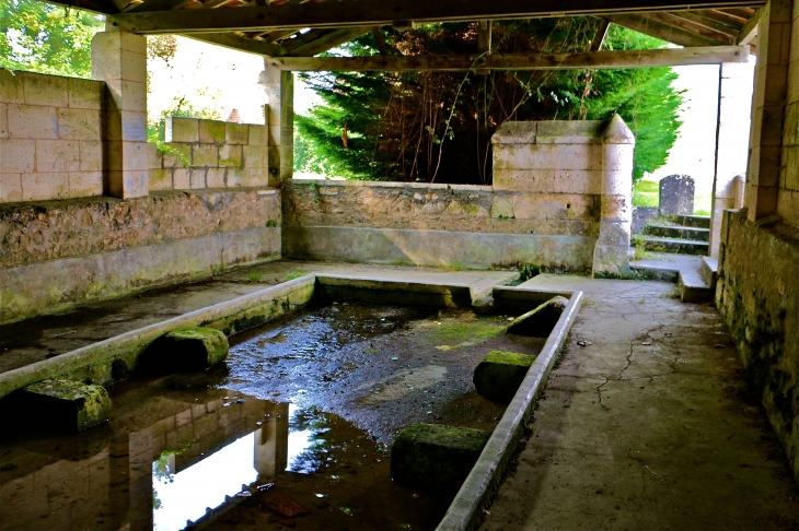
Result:
<svg viewBox="0 0 799 531">
<path fill-rule="evenodd" d="M 716 306 L 799 480 L 799 228 L 727 211 Z"/>
</svg>

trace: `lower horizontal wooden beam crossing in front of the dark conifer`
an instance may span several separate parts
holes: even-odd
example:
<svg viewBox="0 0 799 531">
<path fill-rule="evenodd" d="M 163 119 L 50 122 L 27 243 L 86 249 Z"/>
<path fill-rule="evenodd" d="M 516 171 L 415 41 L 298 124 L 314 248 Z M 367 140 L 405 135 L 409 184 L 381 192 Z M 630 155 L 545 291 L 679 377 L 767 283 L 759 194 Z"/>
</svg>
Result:
<svg viewBox="0 0 799 531">
<path fill-rule="evenodd" d="M 675 67 L 746 62 L 746 46 L 708 46 L 660 50 L 586 51 L 574 54 L 480 55 L 476 57 L 270 57 L 265 63 L 290 71 L 466 71 L 570 70 Z"/>
</svg>

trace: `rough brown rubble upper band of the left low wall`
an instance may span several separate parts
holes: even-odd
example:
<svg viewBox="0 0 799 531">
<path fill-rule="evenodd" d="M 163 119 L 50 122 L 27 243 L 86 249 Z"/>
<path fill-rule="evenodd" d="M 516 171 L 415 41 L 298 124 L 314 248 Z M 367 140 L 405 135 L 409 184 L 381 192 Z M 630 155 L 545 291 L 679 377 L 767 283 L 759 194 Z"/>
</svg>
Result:
<svg viewBox="0 0 799 531">
<path fill-rule="evenodd" d="M 178 170 L 175 170 L 175 187 L 178 186 Z M 63 176 L 66 178 L 67 174 Z M 28 180 L 22 184 L 23 191 L 26 182 Z M 279 201 L 277 193 L 215 190 L 164 191 L 128 200 L 96 198 L 42 204 L 4 203 L 0 205 L 3 250 L 0 267 L 265 227 L 269 222 L 279 226 Z M 183 223 L 185 220 L 192 222 Z"/>
</svg>

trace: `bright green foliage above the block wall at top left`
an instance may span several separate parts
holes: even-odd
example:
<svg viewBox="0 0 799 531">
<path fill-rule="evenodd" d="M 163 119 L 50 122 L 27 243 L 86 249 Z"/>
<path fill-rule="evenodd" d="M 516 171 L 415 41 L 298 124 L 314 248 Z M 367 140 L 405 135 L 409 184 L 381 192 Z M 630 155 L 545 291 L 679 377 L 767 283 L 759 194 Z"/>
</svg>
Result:
<svg viewBox="0 0 799 531">
<path fill-rule="evenodd" d="M 103 17 L 37 0 L 0 0 L 0 68 L 91 78 Z"/>
</svg>

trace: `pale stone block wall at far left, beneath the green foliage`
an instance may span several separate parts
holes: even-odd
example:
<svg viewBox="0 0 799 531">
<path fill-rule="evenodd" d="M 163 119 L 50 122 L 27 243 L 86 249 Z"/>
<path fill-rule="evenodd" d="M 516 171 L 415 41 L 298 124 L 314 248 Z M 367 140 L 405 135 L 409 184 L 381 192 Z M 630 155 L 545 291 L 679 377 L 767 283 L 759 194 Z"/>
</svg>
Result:
<svg viewBox="0 0 799 531">
<path fill-rule="evenodd" d="M 0 203 L 103 193 L 105 83 L 0 69 Z"/>
</svg>

